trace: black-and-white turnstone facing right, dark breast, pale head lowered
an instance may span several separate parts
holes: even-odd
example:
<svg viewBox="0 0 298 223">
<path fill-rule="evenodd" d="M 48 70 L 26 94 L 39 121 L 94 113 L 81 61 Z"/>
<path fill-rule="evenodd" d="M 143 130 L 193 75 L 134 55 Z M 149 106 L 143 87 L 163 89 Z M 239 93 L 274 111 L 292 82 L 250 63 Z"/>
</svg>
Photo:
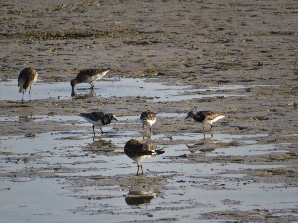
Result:
<svg viewBox="0 0 298 223">
<path fill-rule="evenodd" d="M 91 112 L 91 113 L 80 113 L 81 117 L 86 119 L 89 123 L 93 124 L 93 134 L 95 135 L 94 125 L 99 125 L 101 130 L 101 134 L 103 134 L 103 130 L 101 129 L 102 125 L 108 125 L 111 123 L 112 120 L 116 119 L 116 116 L 113 113 L 105 113 L 105 112 Z"/>
</svg>

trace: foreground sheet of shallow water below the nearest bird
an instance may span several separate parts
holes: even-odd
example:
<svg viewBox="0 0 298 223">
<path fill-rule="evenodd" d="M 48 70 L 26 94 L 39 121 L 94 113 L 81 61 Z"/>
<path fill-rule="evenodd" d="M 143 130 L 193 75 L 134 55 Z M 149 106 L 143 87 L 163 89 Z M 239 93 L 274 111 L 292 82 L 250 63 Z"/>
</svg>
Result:
<svg viewBox="0 0 298 223">
<path fill-rule="evenodd" d="M 293 194 L 294 189 L 270 189 L 272 184 L 257 184 L 256 188 L 246 186 L 245 188 L 240 187 L 241 195 L 238 191 L 228 190 L 225 193 L 222 190 L 205 190 L 200 187 L 196 187 L 195 183 L 177 183 L 175 181 L 169 181 L 172 187 L 175 187 L 172 191 L 160 191 L 159 197 L 153 197 L 150 203 L 131 206 L 125 202 L 125 197 L 122 194 L 125 191 L 116 194 L 115 191 L 98 189 L 98 188 L 86 188 L 86 191 L 77 192 L 72 196 L 66 196 L 68 194 L 67 189 L 61 189 L 59 183 L 63 182 L 63 179 L 56 180 L 32 180 L 30 178 L 24 179 L 29 180 L 26 182 L 18 183 L 18 187 L 12 187 L 15 196 L 11 196 L 10 191 L 5 191 L 1 194 L 1 198 L 9 201 L 6 205 L 5 215 L 2 214 L 1 218 L 4 222 L 9 217 L 10 221 L 18 222 L 20 219 L 13 213 L 15 209 L 18 210 L 18 215 L 26 216 L 25 219 L 30 222 L 60 222 L 61 217 L 67 219 L 67 222 L 81 222 L 86 220 L 88 222 L 98 222 L 98 211 L 104 209 L 114 209 L 116 213 L 113 215 L 114 222 L 131 221 L 131 212 L 137 211 L 138 213 L 153 213 L 154 217 L 162 219 L 165 211 L 156 211 L 154 208 L 158 207 L 170 207 L 170 212 L 173 216 L 185 216 L 191 215 L 195 218 L 199 218 L 199 215 L 204 212 L 208 212 L 210 208 L 214 211 L 226 209 L 227 206 L 232 206 L 243 211 L 255 208 L 291 208 L 292 202 L 295 202 Z M 191 179 L 190 179 L 191 180 Z M 39 181 L 39 182 L 38 182 Z M 225 182 L 226 183 L 226 182 Z M 240 182 L 241 183 L 241 182 Z M 185 185 L 184 185 L 185 184 Z M 183 188 L 180 188 L 184 185 Z M 11 187 L 11 184 L 4 182 L 4 187 Z M 63 187 L 63 186 L 62 186 Z M 189 190 L 188 188 L 191 188 Z M 109 194 L 115 194 L 119 197 L 112 197 L 108 200 L 91 200 L 77 199 L 75 196 L 88 196 L 92 195 L 96 191 L 100 196 Z M 188 192 L 189 191 L 189 192 Z M 252 197 L 251 194 L 257 196 Z M 61 196 L 60 194 L 65 194 Z M 193 199 L 194 194 L 198 194 L 200 202 L 195 202 Z M 274 195 L 274 196 L 271 196 Z M 147 195 L 148 196 L 148 195 Z M 162 196 L 162 197 L 161 197 Z M 39 203 L 35 202 L 36 197 L 43 197 L 47 202 Z M 270 199 L 268 197 L 271 197 Z M 280 197 L 279 202 L 276 202 L 276 197 Z M 266 201 L 266 202 L 264 202 Z M 212 202 L 212 205 L 211 205 Z M 272 205 L 268 205 L 270 202 Z M 16 205 L 14 205 L 16 204 Z M 88 210 L 86 207 L 88 207 Z M 50 208 L 49 208 L 50 207 Z M 78 208 L 81 211 L 88 213 L 90 210 L 94 210 L 94 215 L 80 215 L 78 218 Z M 147 207 L 147 208 L 146 208 Z M 184 207 L 183 209 L 180 209 Z M 104 211 L 103 211 L 104 212 Z M 120 213 L 119 215 L 117 214 Z M 166 211 L 169 212 L 169 211 Z M 50 218 L 48 217 L 50 216 Z M 101 215 L 100 219 L 104 222 L 110 222 L 111 216 L 108 214 Z M 138 219 L 148 219 L 147 214 L 139 214 Z M 183 221 L 183 218 L 181 219 Z M 200 221 L 201 222 L 201 221 Z"/>
</svg>

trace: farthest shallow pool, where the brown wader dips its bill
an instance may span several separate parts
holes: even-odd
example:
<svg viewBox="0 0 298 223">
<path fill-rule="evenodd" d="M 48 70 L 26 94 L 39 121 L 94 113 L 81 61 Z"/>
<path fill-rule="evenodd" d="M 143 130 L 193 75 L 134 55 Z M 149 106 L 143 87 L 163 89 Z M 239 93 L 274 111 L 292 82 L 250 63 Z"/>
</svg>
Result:
<svg viewBox="0 0 298 223">
<path fill-rule="evenodd" d="M 107 80 L 94 82 L 94 89 L 88 89 L 90 84 L 82 83 L 75 86 L 75 95 L 72 95 L 72 89 L 69 83 L 55 82 L 44 83 L 37 81 L 32 85 L 31 99 L 75 99 L 75 98 L 100 98 L 100 97 L 150 97 L 150 101 L 171 101 L 171 100 L 187 100 L 192 98 L 206 98 L 206 97 L 235 97 L 243 95 L 235 94 L 218 94 L 217 90 L 222 89 L 238 89 L 246 88 L 242 85 L 219 85 L 207 89 L 193 89 L 193 85 L 185 85 L 185 83 L 160 83 L 149 82 L 148 79 L 142 78 L 121 78 L 117 80 Z M 264 85 L 254 85 L 250 87 L 262 87 Z M 86 89 L 84 89 L 86 87 Z M 22 93 L 18 93 L 17 80 L 1 81 L 0 82 L 0 100 L 22 100 Z M 129 90 L 128 90 L 129 89 Z M 183 95 L 185 92 L 203 92 L 211 91 L 212 94 L 207 95 Z M 249 95 L 246 95 L 249 96 Z M 24 100 L 29 98 L 29 90 L 24 94 Z"/>
</svg>

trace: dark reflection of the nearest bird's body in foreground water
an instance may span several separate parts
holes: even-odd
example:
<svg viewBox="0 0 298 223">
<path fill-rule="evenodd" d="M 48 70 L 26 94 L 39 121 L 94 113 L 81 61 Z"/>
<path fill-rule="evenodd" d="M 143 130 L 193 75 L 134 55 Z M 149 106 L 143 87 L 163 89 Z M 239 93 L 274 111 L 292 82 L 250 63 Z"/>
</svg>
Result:
<svg viewBox="0 0 298 223">
<path fill-rule="evenodd" d="M 125 202 L 128 205 L 141 205 L 151 203 L 151 200 L 155 198 L 156 195 L 159 193 L 159 191 L 130 191 L 125 197 Z"/>
</svg>

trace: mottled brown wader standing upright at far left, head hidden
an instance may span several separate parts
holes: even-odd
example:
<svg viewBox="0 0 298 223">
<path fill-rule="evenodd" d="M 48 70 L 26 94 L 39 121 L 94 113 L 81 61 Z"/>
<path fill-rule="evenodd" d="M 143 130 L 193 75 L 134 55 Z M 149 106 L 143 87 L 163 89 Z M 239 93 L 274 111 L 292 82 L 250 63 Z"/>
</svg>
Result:
<svg viewBox="0 0 298 223">
<path fill-rule="evenodd" d="M 34 70 L 32 67 L 26 67 L 20 72 L 19 77 L 18 77 L 18 87 L 20 87 L 19 92 L 23 92 L 21 103 L 23 103 L 24 89 L 26 92 L 26 89 L 29 86 L 30 86 L 29 102 L 31 102 L 31 86 L 37 80 L 37 76 L 38 76 L 38 74 L 37 74 L 36 70 Z"/>
</svg>

